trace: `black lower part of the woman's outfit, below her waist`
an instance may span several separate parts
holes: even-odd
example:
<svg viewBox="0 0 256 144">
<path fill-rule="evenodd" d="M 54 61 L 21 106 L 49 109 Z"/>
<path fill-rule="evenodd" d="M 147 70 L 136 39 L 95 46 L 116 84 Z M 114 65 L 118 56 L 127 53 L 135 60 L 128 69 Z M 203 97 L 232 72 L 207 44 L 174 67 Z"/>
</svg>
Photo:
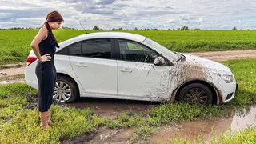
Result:
<svg viewBox="0 0 256 144">
<path fill-rule="evenodd" d="M 42 68 L 39 63 L 35 69 L 38 78 L 38 110 L 46 112 L 53 102 L 56 70 L 55 67 Z"/>
</svg>

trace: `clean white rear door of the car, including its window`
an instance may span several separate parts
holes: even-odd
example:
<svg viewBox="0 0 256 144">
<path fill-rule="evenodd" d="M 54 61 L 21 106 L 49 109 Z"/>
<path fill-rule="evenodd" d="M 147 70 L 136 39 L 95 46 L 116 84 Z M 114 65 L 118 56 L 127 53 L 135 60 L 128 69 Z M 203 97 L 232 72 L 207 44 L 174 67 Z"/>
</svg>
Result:
<svg viewBox="0 0 256 144">
<path fill-rule="evenodd" d="M 70 64 L 87 95 L 117 94 L 117 62 L 111 38 L 90 39 L 69 47 Z"/>
</svg>

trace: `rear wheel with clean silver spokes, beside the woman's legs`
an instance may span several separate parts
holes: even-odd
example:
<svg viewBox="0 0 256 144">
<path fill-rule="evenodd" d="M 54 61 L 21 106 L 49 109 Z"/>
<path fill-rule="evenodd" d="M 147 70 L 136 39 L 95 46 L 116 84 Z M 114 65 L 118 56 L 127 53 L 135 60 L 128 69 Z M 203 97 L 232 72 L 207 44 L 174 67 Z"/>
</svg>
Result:
<svg viewBox="0 0 256 144">
<path fill-rule="evenodd" d="M 75 84 L 74 80 L 65 76 L 58 75 L 54 86 L 54 102 L 63 104 L 74 102 L 77 98 L 78 86 Z"/>
</svg>

